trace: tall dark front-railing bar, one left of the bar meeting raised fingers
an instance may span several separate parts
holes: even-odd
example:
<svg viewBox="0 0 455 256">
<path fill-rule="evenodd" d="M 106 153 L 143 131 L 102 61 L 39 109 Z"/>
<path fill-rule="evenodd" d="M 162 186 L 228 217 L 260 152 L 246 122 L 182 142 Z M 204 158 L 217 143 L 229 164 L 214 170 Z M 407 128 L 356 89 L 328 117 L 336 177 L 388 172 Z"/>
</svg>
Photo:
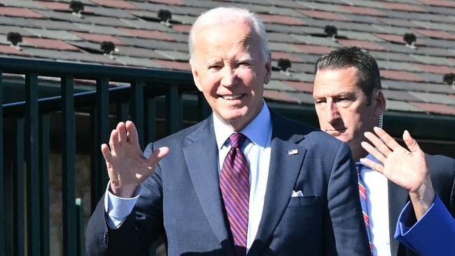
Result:
<svg viewBox="0 0 455 256">
<path fill-rule="evenodd" d="M 63 255 L 76 256 L 76 136 L 74 118 L 74 79 L 62 78 L 62 207 Z"/>
</svg>

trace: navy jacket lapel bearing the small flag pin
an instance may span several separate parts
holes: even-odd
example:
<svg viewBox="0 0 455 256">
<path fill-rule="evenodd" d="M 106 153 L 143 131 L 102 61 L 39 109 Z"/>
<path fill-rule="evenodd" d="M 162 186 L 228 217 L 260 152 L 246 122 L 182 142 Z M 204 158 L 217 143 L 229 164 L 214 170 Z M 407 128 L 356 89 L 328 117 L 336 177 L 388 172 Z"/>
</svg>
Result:
<svg viewBox="0 0 455 256">
<path fill-rule="evenodd" d="M 270 153 L 269 177 L 267 179 L 264 208 L 258 233 L 248 251 L 248 255 L 260 255 L 272 236 L 281 220 L 281 216 L 286 210 L 304 155 L 307 152 L 306 148 L 297 145 L 304 136 L 297 134 L 289 138 L 287 133 L 281 134 L 282 130 L 279 127 L 286 127 L 286 121 L 277 121 L 276 118 L 276 115 L 272 113 L 274 131 L 272 134 L 272 151 Z M 280 123 L 280 125 L 275 125 L 276 123 Z M 297 150 L 297 153 L 295 153 L 295 150 Z"/>
</svg>

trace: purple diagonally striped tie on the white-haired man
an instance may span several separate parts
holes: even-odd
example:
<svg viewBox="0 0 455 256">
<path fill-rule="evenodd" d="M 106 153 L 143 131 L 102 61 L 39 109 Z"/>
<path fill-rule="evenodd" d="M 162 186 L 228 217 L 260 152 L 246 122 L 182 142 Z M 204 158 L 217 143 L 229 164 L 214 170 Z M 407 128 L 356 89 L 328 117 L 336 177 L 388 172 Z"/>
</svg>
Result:
<svg viewBox="0 0 455 256">
<path fill-rule="evenodd" d="M 223 162 L 220 189 L 228 215 L 234 240 L 235 255 L 246 255 L 246 233 L 248 232 L 248 203 L 250 198 L 248 161 L 241 145 L 246 136 L 232 134 L 229 137 L 231 148 Z"/>
</svg>

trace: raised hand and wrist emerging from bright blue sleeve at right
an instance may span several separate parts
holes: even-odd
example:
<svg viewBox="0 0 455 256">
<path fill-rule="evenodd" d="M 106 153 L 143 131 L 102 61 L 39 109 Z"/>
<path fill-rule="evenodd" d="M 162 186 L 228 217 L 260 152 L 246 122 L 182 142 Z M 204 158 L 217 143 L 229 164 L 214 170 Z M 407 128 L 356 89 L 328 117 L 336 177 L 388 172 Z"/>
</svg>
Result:
<svg viewBox="0 0 455 256">
<path fill-rule="evenodd" d="M 374 132 L 365 132 L 372 143 L 363 141 L 362 147 L 381 164 L 362 158 L 360 162 L 382 173 L 388 180 L 409 191 L 409 197 L 419 220 L 428 211 L 435 199 L 435 190 L 430 180 L 430 170 L 426 164 L 425 153 L 408 131 L 403 133 L 403 148 L 390 135 L 379 127 Z"/>
</svg>

